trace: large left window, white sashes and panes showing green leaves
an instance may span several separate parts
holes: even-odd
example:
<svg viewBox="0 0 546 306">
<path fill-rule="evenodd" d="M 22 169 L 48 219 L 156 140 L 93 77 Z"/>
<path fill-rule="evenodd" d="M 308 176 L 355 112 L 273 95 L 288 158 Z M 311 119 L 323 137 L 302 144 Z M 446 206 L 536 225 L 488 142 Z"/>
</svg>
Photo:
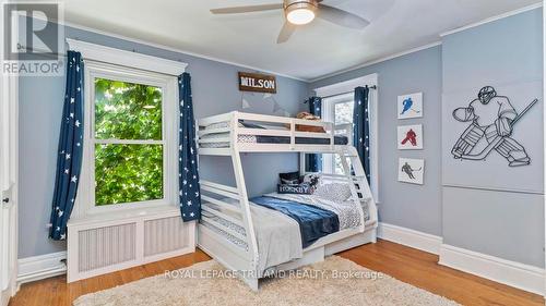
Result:
<svg viewBox="0 0 546 306">
<path fill-rule="evenodd" d="M 176 204 L 177 93 L 175 76 L 85 62 L 86 211 Z"/>
</svg>

